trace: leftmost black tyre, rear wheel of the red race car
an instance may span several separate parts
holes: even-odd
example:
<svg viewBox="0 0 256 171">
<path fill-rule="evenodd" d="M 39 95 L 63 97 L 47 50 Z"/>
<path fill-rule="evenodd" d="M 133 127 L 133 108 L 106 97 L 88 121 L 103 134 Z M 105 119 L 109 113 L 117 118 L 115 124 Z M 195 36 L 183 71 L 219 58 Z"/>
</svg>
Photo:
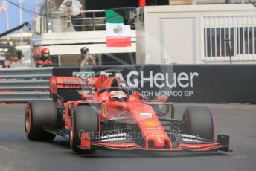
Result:
<svg viewBox="0 0 256 171">
<path fill-rule="evenodd" d="M 52 141 L 54 134 L 45 128 L 56 128 L 57 106 L 51 100 L 31 100 L 25 109 L 25 134 L 32 141 Z"/>
</svg>

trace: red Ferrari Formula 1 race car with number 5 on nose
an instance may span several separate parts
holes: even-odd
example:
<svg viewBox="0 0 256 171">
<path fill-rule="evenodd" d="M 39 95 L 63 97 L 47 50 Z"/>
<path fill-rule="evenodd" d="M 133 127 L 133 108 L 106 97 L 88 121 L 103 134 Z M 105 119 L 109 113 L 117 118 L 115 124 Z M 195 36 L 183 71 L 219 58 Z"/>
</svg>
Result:
<svg viewBox="0 0 256 171">
<path fill-rule="evenodd" d="M 229 137 L 217 135 L 205 106 L 185 109 L 174 119 L 166 97 L 146 100 L 141 90 L 121 86 L 117 77 L 51 77 L 52 100 L 31 100 L 25 134 L 33 141 L 68 138 L 74 152 L 96 149 L 148 151 L 229 151 Z M 170 115 L 170 118 L 166 116 Z"/>
</svg>

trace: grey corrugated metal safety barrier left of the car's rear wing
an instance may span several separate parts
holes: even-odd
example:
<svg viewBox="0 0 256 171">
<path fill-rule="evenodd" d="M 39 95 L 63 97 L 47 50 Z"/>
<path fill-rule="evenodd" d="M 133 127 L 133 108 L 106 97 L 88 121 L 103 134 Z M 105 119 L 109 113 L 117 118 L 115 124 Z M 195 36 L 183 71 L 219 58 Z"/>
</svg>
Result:
<svg viewBox="0 0 256 171">
<path fill-rule="evenodd" d="M 52 68 L 0 69 L 0 102 L 26 103 L 49 99 Z"/>
</svg>

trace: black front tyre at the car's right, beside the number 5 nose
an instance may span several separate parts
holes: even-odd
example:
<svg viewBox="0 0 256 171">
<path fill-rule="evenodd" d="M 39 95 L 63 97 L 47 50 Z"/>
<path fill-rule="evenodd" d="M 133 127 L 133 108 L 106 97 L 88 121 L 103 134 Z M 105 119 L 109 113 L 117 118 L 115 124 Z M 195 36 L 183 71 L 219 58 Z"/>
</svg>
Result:
<svg viewBox="0 0 256 171">
<path fill-rule="evenodd" d="M 183 114 L 185 133 L 214 141 L 214 119 L 206 106 L 190 106 Z"/>
</svg>

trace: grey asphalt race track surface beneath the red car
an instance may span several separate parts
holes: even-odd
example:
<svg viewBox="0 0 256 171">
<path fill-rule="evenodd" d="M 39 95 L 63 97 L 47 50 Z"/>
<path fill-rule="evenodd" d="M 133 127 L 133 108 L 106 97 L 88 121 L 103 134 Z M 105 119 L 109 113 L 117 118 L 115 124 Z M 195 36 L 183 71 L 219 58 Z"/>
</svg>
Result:
<svg viewBox="0 0 256 171">
<path fill-rule="evenodd" d="M 186 106 L 175 104 L 176 118 Z M 25 105 L 0 106 L 0 171 L 21 170 L 256 170 L 256 106 L 210 104 L 217 133 L 230 135 L 234 152 L 120 152 L 77 155 L 68 141 L 28 141 L 24 132 Z"/>
</svg>

